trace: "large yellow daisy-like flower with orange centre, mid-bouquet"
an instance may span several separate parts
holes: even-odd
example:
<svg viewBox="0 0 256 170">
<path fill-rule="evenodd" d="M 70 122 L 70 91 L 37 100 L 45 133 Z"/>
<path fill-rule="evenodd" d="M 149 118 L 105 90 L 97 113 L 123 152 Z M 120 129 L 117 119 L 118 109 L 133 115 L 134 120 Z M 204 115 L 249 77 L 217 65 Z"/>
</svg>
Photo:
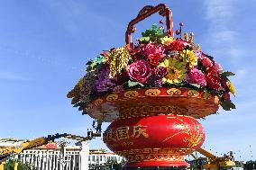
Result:
<svg viewBox="0 0 256 170">
<path fill-rule="evenodd" d="M 178 84 L 182 82 L 186 77 L 186 66 L 180 63 L 175 58 L 166 58 L 161 64 L 161 67 L 166 67 L 168 75 L 162 78 L 163 82 L 169 84 Z"/>
</svg>

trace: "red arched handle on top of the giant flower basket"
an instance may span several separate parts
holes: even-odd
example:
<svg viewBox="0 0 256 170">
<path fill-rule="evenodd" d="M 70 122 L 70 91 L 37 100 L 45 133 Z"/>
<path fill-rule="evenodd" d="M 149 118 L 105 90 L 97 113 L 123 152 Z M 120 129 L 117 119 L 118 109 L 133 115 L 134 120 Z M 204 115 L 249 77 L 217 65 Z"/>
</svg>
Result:
<svg viewBox="0 0 256 170">
<path fill-rule="evenodd" d="M 151 5 L 146 5 L 142 8 L 142 10 L 139 12 L 137 17 L 133 19 L 131 22 L 129 22 L 127 30 L 125 32 L 125 41 L 128 47 L 133 47 L 133 41 L 132 41 L 132 33 L 133 31 L 133 26 L 144 20 L 145 18 L 151 16 L 153 13 L 157 13 L 161 16 L 166 17 L 166 26 L 167 30 L 169 33 L 169 36 L 174 37 L 173 33 L 173 20 L 172 20 L 172 12 L 169 9 L 169 7 L 166 4 L 158 4 L 157 6 L 151 6 Z"/>
</svg>

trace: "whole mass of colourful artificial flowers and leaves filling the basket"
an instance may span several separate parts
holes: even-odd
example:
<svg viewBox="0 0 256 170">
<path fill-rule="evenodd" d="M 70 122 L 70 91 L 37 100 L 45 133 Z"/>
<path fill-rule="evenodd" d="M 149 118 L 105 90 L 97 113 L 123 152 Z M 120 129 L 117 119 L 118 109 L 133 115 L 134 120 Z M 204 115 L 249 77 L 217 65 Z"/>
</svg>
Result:
<svg viewBox="0 0 256 170">
<path fill-rule="evenodd" d="M 180 29 L 176 31 L 180 34 Z M 68 94 L 72 104 L 87 113 L 89 104 L 106 94 L 134 88 L 186 87 L 215 94 L 224 110 L 234 109 L 235 89 L 223 67 L 194 43 L 194 34 L 169 36 L 153 24 L 133 47 L 105 50 L 87 62 L 87 73 Z"/>
</svg>

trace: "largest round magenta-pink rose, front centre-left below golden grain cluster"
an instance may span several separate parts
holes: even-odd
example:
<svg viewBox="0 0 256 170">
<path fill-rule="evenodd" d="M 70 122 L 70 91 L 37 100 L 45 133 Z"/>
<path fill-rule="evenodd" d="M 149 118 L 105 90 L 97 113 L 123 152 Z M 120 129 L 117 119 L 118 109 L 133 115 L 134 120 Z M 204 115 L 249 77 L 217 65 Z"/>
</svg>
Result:
<svg viewBox="0 0 256 170">
<path fill-rule="evenodd" d="M 151 76 L 151 65 L 145 60 L 137 60 L 128 66 L 128 75 L 132 80 L 146 83 Z"/>
</svg>

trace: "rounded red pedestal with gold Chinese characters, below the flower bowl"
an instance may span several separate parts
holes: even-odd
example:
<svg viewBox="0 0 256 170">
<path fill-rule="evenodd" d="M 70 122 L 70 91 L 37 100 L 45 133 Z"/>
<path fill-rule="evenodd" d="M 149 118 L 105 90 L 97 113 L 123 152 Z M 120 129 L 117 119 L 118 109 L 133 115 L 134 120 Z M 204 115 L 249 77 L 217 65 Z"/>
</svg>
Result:
<svg viewBox="0 0 256 170">
<path fill-rule="evenodd" d="M 205 140 L 202 125 L 184 115 L 114 121 L 105 130 L 108 148 L 127 159 L 127 167 L 187 166 L 184 157 Z"/>
</svg>

